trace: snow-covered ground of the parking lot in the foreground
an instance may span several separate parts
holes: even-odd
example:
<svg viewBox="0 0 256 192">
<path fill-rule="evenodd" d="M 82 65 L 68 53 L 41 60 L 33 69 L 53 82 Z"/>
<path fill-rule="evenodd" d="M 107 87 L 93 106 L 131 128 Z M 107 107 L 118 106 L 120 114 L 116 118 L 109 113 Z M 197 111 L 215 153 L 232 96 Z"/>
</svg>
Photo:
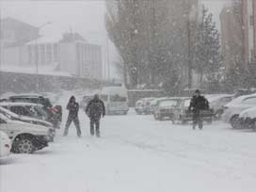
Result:
<svg viewBox="0 0 256 192">
<path fill-rule="evenodd" d="M 215 122 L 202 131 L 152 116 L 108 116 L 102 138 L 62 137 L 0 166 L 1 192 L 255 192 L 256 134 Z"/>
</svg>

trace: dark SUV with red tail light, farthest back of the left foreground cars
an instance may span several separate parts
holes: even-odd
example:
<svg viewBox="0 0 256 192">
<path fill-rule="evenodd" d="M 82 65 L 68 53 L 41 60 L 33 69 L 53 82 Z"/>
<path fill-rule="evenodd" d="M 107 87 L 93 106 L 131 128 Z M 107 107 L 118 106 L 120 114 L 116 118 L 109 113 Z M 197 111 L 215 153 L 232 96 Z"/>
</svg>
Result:
<svg viewBox="0 0 256 192">
<path fill-rule="evenodd" d="M 41 104 L 43 109 L 50 114 L 55 116 L 57 123 L 56 126 L 59 127 L 62 121 L 62 107 L 61 105 L 53 106 L 49 98 L 43 97 L 42 95 L 12 95 L 5 99 L 5 102 L 12 103 L 32 103 L 32 104 Z"/>
</svg>

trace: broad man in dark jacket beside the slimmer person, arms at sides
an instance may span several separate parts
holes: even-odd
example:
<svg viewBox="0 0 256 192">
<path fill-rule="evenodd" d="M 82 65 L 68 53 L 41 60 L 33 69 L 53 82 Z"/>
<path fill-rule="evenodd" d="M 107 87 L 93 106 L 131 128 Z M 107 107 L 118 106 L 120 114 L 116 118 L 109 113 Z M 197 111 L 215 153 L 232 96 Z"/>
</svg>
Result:
<svg viewBox="0 0 256 192">
<path fill-rule="evenodd" d="M 105 114 L 104 102 L 99 98 L 99 95 L 94 95 L 94 98 L 89 101 L 86 113 L 90 120 L 90 135 L 94 136 L 96 126 L 96 136 L 100 137 L 100 120 Z"/>
</svg>

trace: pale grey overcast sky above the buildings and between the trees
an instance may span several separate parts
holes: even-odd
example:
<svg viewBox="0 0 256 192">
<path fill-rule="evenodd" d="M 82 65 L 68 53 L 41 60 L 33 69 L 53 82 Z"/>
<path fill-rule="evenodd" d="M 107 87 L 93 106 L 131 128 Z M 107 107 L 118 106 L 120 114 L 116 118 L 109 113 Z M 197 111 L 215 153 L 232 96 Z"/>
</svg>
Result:
<svg viewBox="0 0 256 192">
<path fill-rule="evenodd" d="M 231 0 L 202 0 L 203 4 L 214 13 L 219 28 L 219 13 L 223 5 Z M 89 42 L 104 45 L 106 57 L 106 31 L 104 28 L 104 0 L 84 1 L 24 1 L 0 0 L 1 18 L 14 17 L 25 23 L 40 26 L 40 35 L 49 39 L 59 39 L 63 32 L 79 32 Z M 116 52 L 110 43 L 110 60 Z M 105 59 L 104 59 L 105 61 Z"/>
</svg>

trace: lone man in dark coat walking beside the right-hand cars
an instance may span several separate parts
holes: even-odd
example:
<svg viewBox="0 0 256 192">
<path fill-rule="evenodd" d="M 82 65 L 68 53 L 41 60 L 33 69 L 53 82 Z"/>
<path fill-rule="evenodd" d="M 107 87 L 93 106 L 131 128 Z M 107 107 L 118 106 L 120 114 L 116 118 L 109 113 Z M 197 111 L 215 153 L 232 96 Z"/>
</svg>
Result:
<svg viewBox="0 0 256 192">
<path fill-rule="evenodd" d="M 197 124 L 202 129 L 200 111 L 205 109 L 209 109 L 209 103 L 205 97 L 200 95 L 200 90 L 197 89 L 188 107 L 188 110 L 193 112 L 193 129 L 196 129 Z"/>
</svg>

